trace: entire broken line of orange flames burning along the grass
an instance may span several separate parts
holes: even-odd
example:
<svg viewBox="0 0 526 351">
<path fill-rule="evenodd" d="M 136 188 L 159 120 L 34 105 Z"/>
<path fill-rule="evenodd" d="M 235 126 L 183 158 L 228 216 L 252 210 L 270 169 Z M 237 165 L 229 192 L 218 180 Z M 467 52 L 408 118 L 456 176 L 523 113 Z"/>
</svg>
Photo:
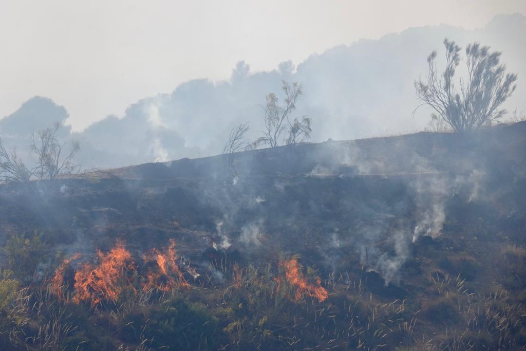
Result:
<svg viewBox="0 0 526 351">
<path fill-rule="evenodd" d="M 65 291 L 73 288 L 73 302 L 89 302 L 93 306 L 106 301 L 117 302 L 119 295 L 125 291 L 136 293 L 135 287 L 141 286 L 144 291 L 158 289 L 170 292 L 178 287 L 190 287 L 183 272 L 177 265 L 178 256 L 175 240 L 170 239 L 167 248 L 152 248 L 143 255 L 143 264 L 135 263 L 123 240 L 117 240 L 115 246 L 107 253 L 97 250 L 97 262 L 84 263 L 75 272 L 71 262 L 80 257 L 75 254 L 58 266 L 55 275 L 49 281 L 49 287 L 59 299 L 65 299 Z M 182 263 L 188 274 L 197 278 L 199 274 L 188 263 Z M 310 284 L 300 271 L 297 258 L 281 260 L 279 266 L 285 270 L 285 277 L 277 276 L 278 290 L 287 282 L 294 290 L 296 301 L 310 296 L 323 302 L 328 293 L 321 286 L 320 278 Z M 244 269 L 234 264 L 234 280 L 237 288 L 242 287 Z M 144 273 L 144 275 L 143 275 Z M 257 275 L 255 277 L 257 279 Z"/>
</svg>

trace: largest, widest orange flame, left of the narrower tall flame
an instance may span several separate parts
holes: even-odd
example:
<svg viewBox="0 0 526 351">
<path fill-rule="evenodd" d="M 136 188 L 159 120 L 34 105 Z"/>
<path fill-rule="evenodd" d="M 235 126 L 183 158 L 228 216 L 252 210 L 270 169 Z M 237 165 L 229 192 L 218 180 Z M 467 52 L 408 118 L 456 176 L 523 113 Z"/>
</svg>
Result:
<svg viewBox="0 0 526 351">
<path fill-rule="evenodd" d="M 100 250 L 97 250 L 97 254 L 99 257 L 97 267 L 85 264 L 75 273 L 73 300 L 76 303 L 90 301 L 92 305 L 97 305 L 102 299 L 116 302 L 123 291 L 122 280 L 126 271 L 135 269 L 131 254 L 126 250 L 122 240 L 117 240 L 115 247 L 107 254 Z"/>
</svg>

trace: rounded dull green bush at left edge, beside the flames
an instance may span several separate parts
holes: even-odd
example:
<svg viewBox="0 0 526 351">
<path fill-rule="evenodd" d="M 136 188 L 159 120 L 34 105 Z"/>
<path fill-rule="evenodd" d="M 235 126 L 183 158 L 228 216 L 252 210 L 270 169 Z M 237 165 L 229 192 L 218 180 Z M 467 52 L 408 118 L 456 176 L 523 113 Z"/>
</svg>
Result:
<svg viewBox="0 0 526 351">
<path fill-rule="evenodd" d="M 4 248 L 8 267 L 24 283 L 34 282 L 38 268 L 47 259 L 48 247 L 42 240 L 42 234 L 35 232 L 26 238 L 14 235 L 9 238 Z"/>
</svg>

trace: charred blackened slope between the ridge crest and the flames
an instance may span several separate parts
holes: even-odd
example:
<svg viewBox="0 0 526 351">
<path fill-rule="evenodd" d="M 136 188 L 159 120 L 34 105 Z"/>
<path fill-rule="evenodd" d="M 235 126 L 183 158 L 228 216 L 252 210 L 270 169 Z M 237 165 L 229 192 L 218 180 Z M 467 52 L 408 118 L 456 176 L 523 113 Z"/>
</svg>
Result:
<svg viewBox="0 0 526 351">
<path fill-rule="evenodd" d="M 422 311 L 420 337 L 463 318 L 430 306 L 436 280 L 460 277 L 480 296 L 526 303 L 526 123 L 245 152 L 236 179 L 224 164 L 183 159 L 2 185 L 0 242 L 36 230 L 53 250 L 95 257 L 123 238 L 138 257 L 174 238 L 201 273 L 221 257 L 277 270 L 298 254 L 335 305 L 335 284 L 358 284 Z"/>
</svg>

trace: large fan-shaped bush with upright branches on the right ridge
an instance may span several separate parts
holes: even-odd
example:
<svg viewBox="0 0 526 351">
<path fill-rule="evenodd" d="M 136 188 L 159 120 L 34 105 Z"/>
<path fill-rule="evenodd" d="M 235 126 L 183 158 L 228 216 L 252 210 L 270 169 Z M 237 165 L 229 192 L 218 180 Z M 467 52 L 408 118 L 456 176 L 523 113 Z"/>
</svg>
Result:
<svg viewBox="0 0 526 351">
<path fill-rule="evenodd" d="M 437 52 L 433 51 L 428 56 L 426 79 L 414 82 L 422 105 L 433 108 L 456 132 L 473 131 L 502 117 L 506 111 L 500 106 L 515 90 L 517 75 L 505 73 L 505 65 L 500 64 L 501 53 L 490 52 L 489 46 L 480 46 L 479 43 L 469 44 L 466 47 L 468 78 L 460 79 L 460 89 L 457 90 L 453 78 L 460 63 L 461 48 L 447 38 L 444 46 L 444 72 L 437 72 Z"/>
</svg>

